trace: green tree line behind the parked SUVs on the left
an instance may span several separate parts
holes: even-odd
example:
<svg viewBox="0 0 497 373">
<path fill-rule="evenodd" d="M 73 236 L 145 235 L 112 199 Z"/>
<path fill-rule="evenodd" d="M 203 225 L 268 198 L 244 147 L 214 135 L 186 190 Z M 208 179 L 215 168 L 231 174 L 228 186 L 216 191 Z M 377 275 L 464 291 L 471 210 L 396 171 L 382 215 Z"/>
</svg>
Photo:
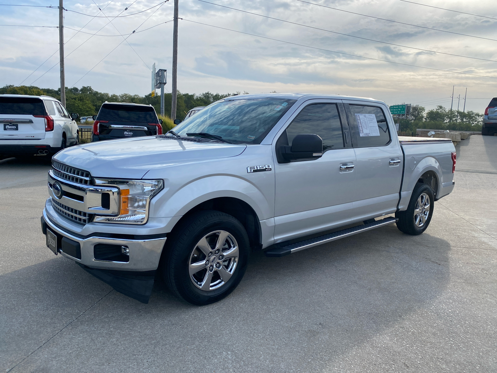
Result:
<svg viewBox="0 0 497 373">
<path fill-rule="evenodd" d="M 35 86 L 19 86 L 7 85 L 0 88 L 0 94 L 30 94 L 30 95 L 47 95 L 60 100 L 61 90 L 53 90 L 50 88 L 39 88 Z M 176 104 L 176 117 L 182 119 L 188 110 L 195 106 L 206 106 L 221 98 L 232 96 L 237 93 L 210 93 L 204 92 L 201 94 L 180 93 L 177 95 Z M 247 94 L 247 92 L 244 92 Z M 164 94 L 164 111 L 167 116 L 171 115 L 171 93 Z M 100 106 L 105 101 L 108 102 L 132 102 L 143 103 L 146 105 L 152 104 L 157 113 L 161 112 L 161 95 L 156 94 L 152 97 L 149 93 L 145 96 L 138 94 L 109 94 L 98 92 L 89 86 L 82 87 L 81 89 L 72 87 L 66 88 L 66 108 L 70 113 L 78 113 L 80 116 L 91 116 L 98 113 Z"/>
</svg>

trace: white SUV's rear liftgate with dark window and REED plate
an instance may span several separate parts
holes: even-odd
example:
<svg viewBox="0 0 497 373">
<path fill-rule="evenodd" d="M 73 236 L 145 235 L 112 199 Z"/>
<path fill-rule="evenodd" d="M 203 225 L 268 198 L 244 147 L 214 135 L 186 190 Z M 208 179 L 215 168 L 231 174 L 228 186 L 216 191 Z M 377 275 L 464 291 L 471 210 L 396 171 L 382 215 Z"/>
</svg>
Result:
<svg viewBox="0 0 497 373">
<path fill-rule="evenodd" d="M 44 139 L 44 115 L 45 106 L 40 98 L 1 96 L 0 140 Z"/>
</svg>

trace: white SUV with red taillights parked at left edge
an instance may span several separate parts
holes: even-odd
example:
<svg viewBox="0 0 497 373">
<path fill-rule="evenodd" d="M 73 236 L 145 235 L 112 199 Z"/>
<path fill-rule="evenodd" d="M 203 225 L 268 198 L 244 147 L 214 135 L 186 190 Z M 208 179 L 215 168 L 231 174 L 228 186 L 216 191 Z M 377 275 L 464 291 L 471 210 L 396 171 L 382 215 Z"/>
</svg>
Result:
<svg viewBox="0 0 497 373">
<path fill-rule="evenodd" d="M 77 145 L 78 117 L 50 96 L 0 94 L 0 155 L 53 155 Z"/>
</svg>

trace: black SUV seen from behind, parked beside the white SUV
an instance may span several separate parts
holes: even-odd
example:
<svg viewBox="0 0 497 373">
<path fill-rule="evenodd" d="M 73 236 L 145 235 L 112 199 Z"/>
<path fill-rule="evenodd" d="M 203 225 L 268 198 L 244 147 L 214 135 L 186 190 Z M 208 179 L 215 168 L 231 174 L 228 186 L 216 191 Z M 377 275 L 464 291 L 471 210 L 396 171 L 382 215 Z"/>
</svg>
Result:
<svg viewBox="0 0 497 373">
<path fill-rule="evenodd" d="M 162 120 L 150 105 L 104 102 L 93 120 L 91 141 L 162 135 Z"/>
</svg>

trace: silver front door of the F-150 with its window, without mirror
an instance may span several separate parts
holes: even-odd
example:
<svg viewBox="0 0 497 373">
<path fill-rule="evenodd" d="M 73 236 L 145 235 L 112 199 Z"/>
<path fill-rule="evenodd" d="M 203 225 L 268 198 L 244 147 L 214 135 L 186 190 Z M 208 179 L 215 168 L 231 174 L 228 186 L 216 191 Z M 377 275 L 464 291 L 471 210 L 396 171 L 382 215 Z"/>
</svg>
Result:
<svg viewBox="0 0 497 373">
<path fill-rule="evenodd" d="M 276 147 L 291 145 L 298 134 L 320 136 L 323 155 L 278 163 Z M 303 103 L 276 138 L 275 243 L 346 225 L 355 195 L 355 155 L 341 101 Z"/>
</svg>

